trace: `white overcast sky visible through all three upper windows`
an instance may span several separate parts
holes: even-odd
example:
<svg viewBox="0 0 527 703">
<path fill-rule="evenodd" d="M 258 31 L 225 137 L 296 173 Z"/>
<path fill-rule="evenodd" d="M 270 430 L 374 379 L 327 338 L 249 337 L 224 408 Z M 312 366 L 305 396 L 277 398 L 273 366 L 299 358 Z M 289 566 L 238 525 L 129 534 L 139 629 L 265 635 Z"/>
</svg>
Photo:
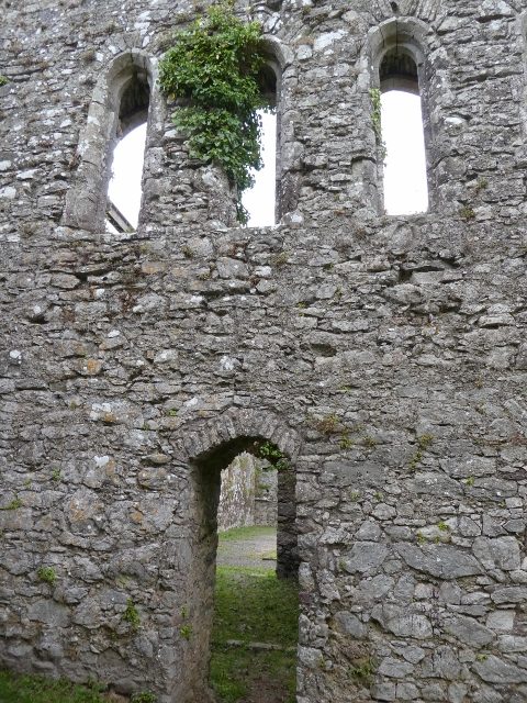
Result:
<svg viewBox="0 0 527 703">
<path fill-rule="evenodd" d="M 264 168 L 255 174 L 254 188 L 244 193 L 249 226 L 274 224 L 276 116 L 262 114 Z M 384 167 L 384 205 L 388 214 L 424 212 L 426 190 L 423 120 L 418 96 L 390 91 L 382 96 L 382 135 L 388 156 Z M 141 204 L 141 176 L 146 124 L 130 132 L 115 147 L 109 198 L 133 226 Z"/>
</svg>

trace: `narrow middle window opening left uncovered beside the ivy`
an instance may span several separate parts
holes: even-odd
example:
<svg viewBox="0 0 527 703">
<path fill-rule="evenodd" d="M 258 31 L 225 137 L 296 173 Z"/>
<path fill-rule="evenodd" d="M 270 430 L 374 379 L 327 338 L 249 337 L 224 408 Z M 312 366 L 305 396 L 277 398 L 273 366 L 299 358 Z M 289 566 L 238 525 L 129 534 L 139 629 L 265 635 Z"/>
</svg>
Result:
<svg viewBox="0 0 527 703">
<path fill-rule="evenodd" d="M 255 183 L 245 191 L 242 203 L 247 210 L 249 227 L 268 227 L 277 222 L 277 144 L 278 133 L 278 100 L 277 74 L 267 65 L 260 72 L 261 94 L 267 104 L 266 110 L 259 110 L 261 121 L 261 159 L 264 166 L 259 171 L 253 171 Z"/>
</svg>

